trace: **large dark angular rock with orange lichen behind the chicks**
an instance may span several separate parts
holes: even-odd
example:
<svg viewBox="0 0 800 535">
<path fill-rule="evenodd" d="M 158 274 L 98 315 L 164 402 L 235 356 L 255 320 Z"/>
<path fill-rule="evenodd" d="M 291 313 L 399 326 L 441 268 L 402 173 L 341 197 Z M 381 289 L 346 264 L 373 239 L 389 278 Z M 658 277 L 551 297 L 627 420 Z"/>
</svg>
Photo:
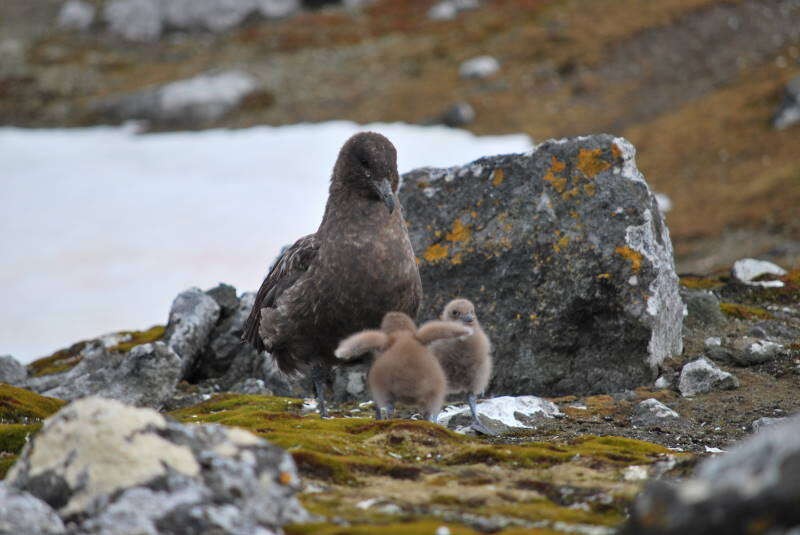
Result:
<svg viewBox="0 0 800 535">
<path fill-rule="evenodd" d="M 403 176 L 422 317 L 476 303 L 490 392 L 620 391 L 681 352 L 669 231 L 634 155 L 603 134 Z"/>
</svg>

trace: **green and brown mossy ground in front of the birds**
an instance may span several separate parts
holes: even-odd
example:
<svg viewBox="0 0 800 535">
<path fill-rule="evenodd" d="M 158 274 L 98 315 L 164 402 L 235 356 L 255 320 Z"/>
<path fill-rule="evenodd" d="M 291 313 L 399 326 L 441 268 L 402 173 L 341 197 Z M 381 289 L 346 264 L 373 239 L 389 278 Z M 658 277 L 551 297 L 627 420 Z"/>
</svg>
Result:
<svg viewBox="0 0 800 535">
<path fill-rule="evenodd" d="M 592 410 L 609 410 L 601 401 L 590 400 Z M 614 436 L 472 438 L 424 421 L 375 421 L 358 411 L 345 407 L 322 420 L 302 414 L 298 400 L 225 394 L 170 415 L 242 427 L 286 448 L 306 482 L 301 501 L 327 519 L 288 528 L 296 534 L 433 533 L 442 525 L 475 533 L 476 519 L 501 519 L 504 534 L 616 526 L 640 486 L 624 479 L 625 468 L 672 454 Z"/>
</svg>

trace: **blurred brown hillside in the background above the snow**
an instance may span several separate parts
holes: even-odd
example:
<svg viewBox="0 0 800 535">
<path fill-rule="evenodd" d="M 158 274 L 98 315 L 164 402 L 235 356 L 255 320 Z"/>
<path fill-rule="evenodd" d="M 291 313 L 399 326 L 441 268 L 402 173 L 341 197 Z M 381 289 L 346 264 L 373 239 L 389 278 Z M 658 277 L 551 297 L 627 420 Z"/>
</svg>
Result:
<svg viewBox="0 0 800 535">
<path fill-rule="evenodd" d="M 429 123 L 468 103 L 474 118 L 460 122 L 478 134 L 630 139 L 672 200 L 681 271 L 756 255 L 800 263 L 800 124 L 771 124 L 800 75 L 796 0 L 350 1 L 275 19 L 253 8 L 221 29 L 165 19 L 139 37 L 142 10 L 111 20 L 114 1 L 84 2 L 95 12 L 83 19 L 65 19 L 58 0 L 0 2 L 0 124 Z M 483 55 L 496 72 L 461 69 Z M 225 106 L 149 109 L 166 98 L 153 88 L 221 72 Z"/>
</svg>

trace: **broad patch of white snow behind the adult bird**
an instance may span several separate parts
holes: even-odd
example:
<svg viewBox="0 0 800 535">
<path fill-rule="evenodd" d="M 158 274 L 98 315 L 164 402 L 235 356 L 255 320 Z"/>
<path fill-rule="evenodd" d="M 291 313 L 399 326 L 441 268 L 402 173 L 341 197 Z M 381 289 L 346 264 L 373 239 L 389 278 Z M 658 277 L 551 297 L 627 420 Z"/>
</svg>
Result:
<svg viewBox="0 0 800 535">
<path fill-rule="evenodd" d="M 175 296 L 255 290 L 314 232 L 342 143 L 393 141 L 400 171 L 530 150 L 525 135 L 329 122 L 137 136 L 131 128 L 0 128 L 0 354 L 23 362 L 164 323 Z"/>
</svg>

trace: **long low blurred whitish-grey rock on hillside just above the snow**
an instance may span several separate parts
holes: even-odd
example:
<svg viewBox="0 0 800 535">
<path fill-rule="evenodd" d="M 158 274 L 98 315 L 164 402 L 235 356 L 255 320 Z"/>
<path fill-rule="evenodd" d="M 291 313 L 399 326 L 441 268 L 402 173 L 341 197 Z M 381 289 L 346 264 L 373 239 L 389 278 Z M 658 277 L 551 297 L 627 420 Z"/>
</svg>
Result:
<svg viewBox="0 0 800 535">
<path fill-rule="evenodd" d="M 93 106 L 118 121 L 137 119 L 169 126 L 202 126 L 236 108 L 255 88 L 255 79 L 246 72 L 209 72 L 105 98 Z"/>
</svg>

